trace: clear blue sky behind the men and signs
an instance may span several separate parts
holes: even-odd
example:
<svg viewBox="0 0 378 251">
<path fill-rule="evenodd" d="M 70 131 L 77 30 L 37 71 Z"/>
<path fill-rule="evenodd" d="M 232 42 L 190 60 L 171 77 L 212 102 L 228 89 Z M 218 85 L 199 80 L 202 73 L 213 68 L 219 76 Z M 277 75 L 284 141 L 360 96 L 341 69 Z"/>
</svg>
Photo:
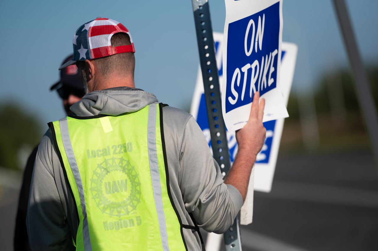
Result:
<svg viewBox="0 0 378 251">
<path fill-rule="evenodd" d="M 222 32 L 225 6 L 210 1 L 213 30 Z M 347 1 L 364 63 L 377 63 L 378 1 Z M 77 27 L 96 17 L 120 21 L 136 48 L 136 86 L 171 106 L 187 108 L 198 70 L 191 1 L 1 1 L 0 103 L 21 104 L 43 123 L 64 116 L 49 87 L 72 53 Z M 331 0 L 283 1 L 283 41 L 298 44 L 293 88 L 311 91 L 322 73 L 348 65 Z"/>
</svg>

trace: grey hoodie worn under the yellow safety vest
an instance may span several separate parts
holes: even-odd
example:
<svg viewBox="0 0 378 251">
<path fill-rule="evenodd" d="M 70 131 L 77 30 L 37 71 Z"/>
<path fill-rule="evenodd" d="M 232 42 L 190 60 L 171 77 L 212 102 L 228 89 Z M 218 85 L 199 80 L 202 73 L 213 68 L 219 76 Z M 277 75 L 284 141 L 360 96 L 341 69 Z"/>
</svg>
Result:
<svg viewBox="0 0 378 251">
<path fill-rule="evenodd" d="M 88 93 L 71 106 L 77 116 L 119 115 L 158 102 L 152 93 L 117 87 Z M 163 108 L 169 182 L 182 224 L 223 233 L 242 207 L 239 191 L 223 183 L 220 168 L 194 118 L 174 107 Z M 39 144 L 28 204 L 26 225 L 34 250 L 75 250 L 77 212 L 64 177 L 50 129 Z M 201 250 L 197 232 L 183 229 L 189 250 Z M 72 236 L 72 237 L 71 237 Z"/>
</svg>

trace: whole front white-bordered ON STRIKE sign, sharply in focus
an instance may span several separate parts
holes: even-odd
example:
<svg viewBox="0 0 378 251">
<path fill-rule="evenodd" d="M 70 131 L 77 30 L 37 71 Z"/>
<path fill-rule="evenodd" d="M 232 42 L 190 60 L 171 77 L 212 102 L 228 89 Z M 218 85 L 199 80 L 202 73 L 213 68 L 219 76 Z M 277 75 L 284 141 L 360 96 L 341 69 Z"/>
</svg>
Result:
<svg viewBox="0 0 378 251">
<path fill-rule="evenodd" d="M 225 2 L 222 109 L 227 129 L 248 122 L 255 92 L 266 99 L 263 122 L 288 117 L 279 89 L 282 3 Z"/>
</svg>

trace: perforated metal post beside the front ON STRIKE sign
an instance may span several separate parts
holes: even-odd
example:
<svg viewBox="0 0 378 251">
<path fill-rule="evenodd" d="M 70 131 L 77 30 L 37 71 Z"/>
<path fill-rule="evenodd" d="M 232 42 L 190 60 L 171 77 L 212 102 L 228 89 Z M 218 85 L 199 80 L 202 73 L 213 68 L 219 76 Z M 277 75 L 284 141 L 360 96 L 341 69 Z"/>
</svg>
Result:
<svg viewBox="0 0 378 251">
<path fill-rule="evenodd" d="M 231 167 L 226 128 L 222 115 L 220 87 L 215 48 L 211 27 L 208 0 L 192 0 L 195 29 L 197 32 L 198 51 L 203 78 L 206 107 L 208 112 L 211 146 L 214 159 L 224 173 Z M 242 250 L 239 231 L 239 219 L 224 234 L 226 250 Z"/>
</svg>

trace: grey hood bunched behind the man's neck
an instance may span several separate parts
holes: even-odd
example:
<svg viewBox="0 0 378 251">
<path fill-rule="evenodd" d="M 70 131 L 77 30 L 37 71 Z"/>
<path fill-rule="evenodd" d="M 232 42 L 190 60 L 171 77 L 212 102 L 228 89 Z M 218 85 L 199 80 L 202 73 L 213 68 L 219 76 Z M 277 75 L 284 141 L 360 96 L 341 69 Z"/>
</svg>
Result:
<svg viewBox="0 0 378 251">
<path fill-rule="evenodd" d="M 152 103 L 158 102 L 155 95 L 141 89 L 115 87 L 97 90 L 86 94 L 73 104 L 70 110 L 76 116 L 120 115 L 136 112 Z"/>
</svg>

